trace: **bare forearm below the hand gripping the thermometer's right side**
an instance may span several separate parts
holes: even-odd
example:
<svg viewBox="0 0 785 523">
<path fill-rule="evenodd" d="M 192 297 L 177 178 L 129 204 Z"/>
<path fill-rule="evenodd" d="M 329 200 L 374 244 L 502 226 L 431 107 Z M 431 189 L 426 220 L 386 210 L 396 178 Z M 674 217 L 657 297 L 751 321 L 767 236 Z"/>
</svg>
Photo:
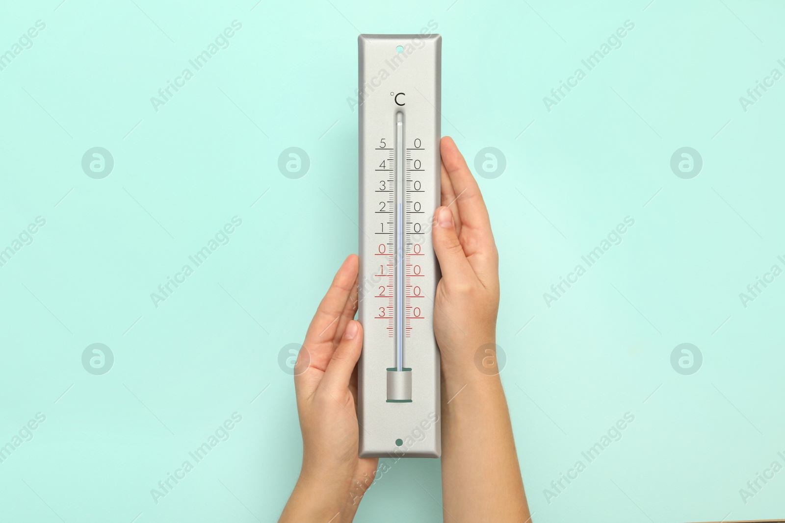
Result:
<svg viewBox="0 0 785 523">
<path fill-rule="evenodd" d="M 501 380 L 467 363 L 445 372 L 442 383 L 444 521 L 524 523 L 529 512 Z"/>
</svg>

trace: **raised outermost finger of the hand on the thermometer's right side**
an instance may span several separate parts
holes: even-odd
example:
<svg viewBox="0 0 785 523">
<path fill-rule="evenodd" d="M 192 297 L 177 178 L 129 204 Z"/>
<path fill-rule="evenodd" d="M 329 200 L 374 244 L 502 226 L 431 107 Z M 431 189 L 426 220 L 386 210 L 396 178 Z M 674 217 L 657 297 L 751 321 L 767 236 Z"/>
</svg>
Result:
<svg viewBox="0 0 785 523">
<path fill-rule="evenodd" d="M 469 234 L 473 234 L 478 240 L 487 243 L 493 242 L 491 234 L 491 220 L 477 185 L 466 160 L 458 151 L 458 146 L 450 136 L 444 136 L 441 140 L 441 157 L 444 168 L 452 183 L 452 190 L 455 192 L 458 213 L 461 216 L 461 234 L 466 234 L 463 228 L 468 229 Z M 474 252 L 466 252 L 466 256 L 472 256 Z"/>
</svg>

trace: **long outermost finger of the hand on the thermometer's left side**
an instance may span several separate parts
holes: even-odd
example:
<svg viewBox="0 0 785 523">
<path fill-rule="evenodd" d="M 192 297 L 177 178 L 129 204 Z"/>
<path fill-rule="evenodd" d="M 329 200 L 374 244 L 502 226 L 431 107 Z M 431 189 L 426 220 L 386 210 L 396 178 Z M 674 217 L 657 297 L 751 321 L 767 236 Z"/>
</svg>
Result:
<svg viewBox="0 0 785 523">
<path fill-rule="evenodd" d="M 356 288 L 357 268 L 357 256 L 348 256 L 316 309 L 308 332 L 305 333 L 305 343 L 300 350 L 303 361 L 298 358 L 300 367 L 296 367 L 298 370 L 294 376 L 294 386 L 298 394 L 312 394 L 327 369 L 327 363 L 334 352 L 333 340 L 338 332 L 341 314 L 345 311 L 352 289 Z M 307 367 L 301 370 L 302 365 Z"/>
</svg>

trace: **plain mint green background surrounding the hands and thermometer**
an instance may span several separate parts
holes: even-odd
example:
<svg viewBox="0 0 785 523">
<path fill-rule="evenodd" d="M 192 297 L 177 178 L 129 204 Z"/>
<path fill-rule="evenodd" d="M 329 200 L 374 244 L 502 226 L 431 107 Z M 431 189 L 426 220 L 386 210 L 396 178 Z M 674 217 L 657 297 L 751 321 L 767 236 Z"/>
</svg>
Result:
<svg viewBox="0 0 785 523">
<path fill-rule="evenodd" d="M 278 353 L 357 247 L 356 36 L 429 20 L 444 38 L 444 134 L 472 165 L 483 147 L 506 155 L 480 187 L 534 521 L 785 518 L 785 471 L 739 496 L 785 465 L 785 278 L 739 300 L 785 268 L 785 80 L 739 104 L 785 73 L 782 4 L 134 2 L 0 8 L 0 52 L 46 23 L 0 71 L 0 249 L 46 219 L 0 267 L 0 445 L 46 415 L 0 463 L 0 520 L 277 518 L 301 456 Z M 150 97 L 232 20 L 228 49 L 155 112 Z M 547 111 L 542 97 L 625 20 L 623 46 Z M 81 168 L 97 146 L 115 159 L 103 180 Z M 685 146 L 703 157 L 692 180 L 670 170 Z M 287 147 L 311 159 L 299 180 L 277 169 Z M 232 216 L 228 245 L 155 308 L 150 293 Z M 621 245 L 546 307 L 625 216 Z M 670 367 L 685 342 L 703 352 L 692 376 Z M 90 343 L 115 355 L 103 376 L 82 368 Z M 232 412 L 230 438 L 155 504 L 150 489 Z M 547 503 L 625 412 L 623 438 Z M 437 460 L 404 460 L 356 521 L 437 521 L 440 494 Z"/>
</svg>

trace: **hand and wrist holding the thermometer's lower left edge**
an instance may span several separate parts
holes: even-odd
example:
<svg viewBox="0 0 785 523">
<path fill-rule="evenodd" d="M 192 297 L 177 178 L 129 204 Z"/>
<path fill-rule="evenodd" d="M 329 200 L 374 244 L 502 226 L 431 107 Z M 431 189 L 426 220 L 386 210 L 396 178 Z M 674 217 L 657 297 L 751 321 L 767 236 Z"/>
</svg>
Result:
<svg viewBox="0 0 785 523">
<path fill-rule="evenodd" d="M 294 367 L 302 469 L 279 521 L 352 521 L 378 459 L 360 458 L 356 364 L 358 258 L 346 258 L 305 335 Z M 330 519 L 333 518 L 333 519 Z"/>
</svg>

